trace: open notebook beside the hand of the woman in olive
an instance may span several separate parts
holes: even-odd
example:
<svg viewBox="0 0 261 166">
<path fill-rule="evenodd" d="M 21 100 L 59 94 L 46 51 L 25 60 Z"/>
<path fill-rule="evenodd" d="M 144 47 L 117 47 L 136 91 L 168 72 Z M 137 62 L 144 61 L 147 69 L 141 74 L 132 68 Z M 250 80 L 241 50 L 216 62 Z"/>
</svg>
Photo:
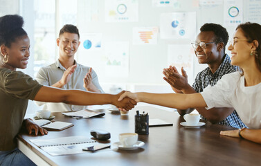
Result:
<svg viewBox="0 0 261 166">
<path fill-rule="evenodd" d="M 60 122 L 60 121 L 51 122 L 50 120 L 45 120 L 45 119 L 34 120 L 34 122 L 38 124 L 39 127 L 43 127 L 48 131 L 62 131 L 64 129 L 73 126 L 73 124 L 69 122 Z"/>
</svg>

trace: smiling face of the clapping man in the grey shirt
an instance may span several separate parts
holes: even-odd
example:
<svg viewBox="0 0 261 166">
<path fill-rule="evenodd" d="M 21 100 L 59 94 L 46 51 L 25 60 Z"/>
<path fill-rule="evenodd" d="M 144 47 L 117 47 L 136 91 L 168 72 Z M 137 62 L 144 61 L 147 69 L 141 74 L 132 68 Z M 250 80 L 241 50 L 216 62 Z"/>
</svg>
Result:
<svg viewBox="0 0 261 166">
<path fill-rule="evenodd" d="M 57 46 L 62 57 L 73 57 L 79 45 L 79 37 L 76 33 L 63 33 L 57 39 Z"/>
</svg>

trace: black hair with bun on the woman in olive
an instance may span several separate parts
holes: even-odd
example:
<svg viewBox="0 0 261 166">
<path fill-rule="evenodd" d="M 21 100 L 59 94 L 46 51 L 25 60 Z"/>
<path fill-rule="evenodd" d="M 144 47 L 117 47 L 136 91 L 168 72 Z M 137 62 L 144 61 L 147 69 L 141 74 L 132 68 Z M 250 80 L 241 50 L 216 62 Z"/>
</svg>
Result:
<svg viewBox="0 0 261 166">
<path fill-rule="evenodd" d="M 23 17 L 19 15 L 5 15 L 0 17 L 0 46 L 4 44 L 10 47 L 17 37 L 27 35 L 22 28 L 24 25 Z"/>
</svg>

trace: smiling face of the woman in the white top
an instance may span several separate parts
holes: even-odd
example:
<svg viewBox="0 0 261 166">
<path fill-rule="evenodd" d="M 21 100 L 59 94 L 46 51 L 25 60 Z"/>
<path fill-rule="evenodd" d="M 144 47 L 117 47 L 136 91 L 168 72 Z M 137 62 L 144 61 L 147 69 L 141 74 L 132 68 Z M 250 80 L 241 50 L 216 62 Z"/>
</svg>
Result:
<svg viewBox="0 0 261 166">
<path fill-rule="evenodd" d="M 231 51 L 232 55 L 231 64 L 244 68 L 244 66 L 249 64 L 249 61 L 254 58 L 254 56 L 250 55 L 252 45 L 247 41 L 240 28 L 235 31 L 233 40 L 234 46 L 228 46 L 228 50 Z"/>
</svg>

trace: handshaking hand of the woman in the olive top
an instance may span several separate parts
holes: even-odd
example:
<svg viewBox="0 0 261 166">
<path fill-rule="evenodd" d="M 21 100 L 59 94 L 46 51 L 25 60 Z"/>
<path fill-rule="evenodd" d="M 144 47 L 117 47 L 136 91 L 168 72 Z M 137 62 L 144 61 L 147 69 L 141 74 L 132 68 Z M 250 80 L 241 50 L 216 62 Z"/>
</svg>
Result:
<svg viewBox="0 0 261 166">
<path fill-rule="evenodd" d="M 123 111 L 129 111 L 130 109 L 134 108 L 137 102 L 135 100 L 132 100 L 131 98 L 123 98 L 121 100 L 118 100 L 120 96 L 125 92 L 126 91 L 121 91 L 120 93 L 118 93 L 112 104 L 114 104 L 116 107 Z"/>
</svg>

